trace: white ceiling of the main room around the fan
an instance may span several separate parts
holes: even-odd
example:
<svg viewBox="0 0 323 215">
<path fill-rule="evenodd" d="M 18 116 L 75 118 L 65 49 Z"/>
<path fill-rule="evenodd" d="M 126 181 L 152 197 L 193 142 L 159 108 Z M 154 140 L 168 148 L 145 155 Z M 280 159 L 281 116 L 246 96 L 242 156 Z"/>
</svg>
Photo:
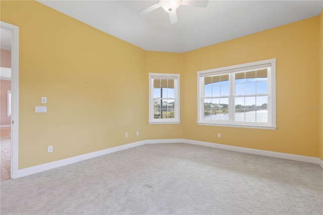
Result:
<svg viewBox="0 0 323 215">
<path fill-rule="evenodd" d="M 38 1 L 103 32 L 151 51 L 186 52 L 317 16 L 323 1 L 209 1 L 206 8 L 180 6 L 170 23 L 158 1 Z M 89 38 L 95 39 L 95 38 Z"/>
</svg>

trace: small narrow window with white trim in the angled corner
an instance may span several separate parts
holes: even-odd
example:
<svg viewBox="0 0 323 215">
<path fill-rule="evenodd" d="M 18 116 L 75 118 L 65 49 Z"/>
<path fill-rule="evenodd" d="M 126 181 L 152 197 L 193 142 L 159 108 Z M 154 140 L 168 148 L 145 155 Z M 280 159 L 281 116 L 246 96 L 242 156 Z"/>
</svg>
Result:
<svg viewBox="0 0 323 215">
<path fill-rule="evenodd" d="M 149 73 L 149 123 L 180 123 L 179 74 Z"/>
</svg>

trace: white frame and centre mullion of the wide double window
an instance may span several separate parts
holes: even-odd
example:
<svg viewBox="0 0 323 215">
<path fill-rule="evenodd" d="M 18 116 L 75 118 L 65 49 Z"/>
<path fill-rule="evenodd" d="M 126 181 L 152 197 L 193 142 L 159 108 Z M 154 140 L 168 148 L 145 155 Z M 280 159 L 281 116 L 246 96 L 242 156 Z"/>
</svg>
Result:
<svg viewBox="0 0 323 215">
<path fill-rule="evenodd" d="M 265 94 L 257 95 L 248 95 L 248 96 L 267 96 L 267 115 L 268 122 L 238 122 L 235 121 L 235 106 L 234 98 L 235 95 L 235 73 L 251 71 L 254 69 L 268 68 L 267 76 L 267 86 L 268 90 Z M 214 97 L 204 97 L 204 77 L 211 75 L 229 75 L 229 114 L 228 120 L 205 120 L 204 119 L 204 101 L 205 98 L 214 98 Z M 238 128 L 256 128 L 256 129 L 270 129 L 276 130 L 276 58 L 251 62 L 246 64 L 234 65 L 229 67 L 222 67 L 204 71 L 197 71 L 197 125 L 205 126 L 224 126 L 224 127 L 238 127 Z"/>
</svg>

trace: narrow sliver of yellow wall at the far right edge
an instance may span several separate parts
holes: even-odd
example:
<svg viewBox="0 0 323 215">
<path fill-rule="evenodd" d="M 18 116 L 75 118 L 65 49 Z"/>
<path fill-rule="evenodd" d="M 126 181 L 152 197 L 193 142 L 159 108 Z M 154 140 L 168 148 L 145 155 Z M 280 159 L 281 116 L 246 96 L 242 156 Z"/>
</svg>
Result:
<svg viewBox="0 0 323 215">
<path fill-rule="evenodd" d="M 323 10 L 319 16 L 319 158 L 323 161 Z"/>
</svg>

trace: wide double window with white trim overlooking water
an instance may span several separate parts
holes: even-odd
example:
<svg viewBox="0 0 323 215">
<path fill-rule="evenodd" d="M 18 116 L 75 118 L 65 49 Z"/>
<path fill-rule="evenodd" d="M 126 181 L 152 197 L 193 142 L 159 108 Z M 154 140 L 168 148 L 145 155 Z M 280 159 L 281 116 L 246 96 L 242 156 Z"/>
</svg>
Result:
<svg viewBox="0 0 323 215">
<path fill-rule="evenodd" d="M 276 59 L 197 72 L 198 125 L 276 129 Z"/>
</svg>

